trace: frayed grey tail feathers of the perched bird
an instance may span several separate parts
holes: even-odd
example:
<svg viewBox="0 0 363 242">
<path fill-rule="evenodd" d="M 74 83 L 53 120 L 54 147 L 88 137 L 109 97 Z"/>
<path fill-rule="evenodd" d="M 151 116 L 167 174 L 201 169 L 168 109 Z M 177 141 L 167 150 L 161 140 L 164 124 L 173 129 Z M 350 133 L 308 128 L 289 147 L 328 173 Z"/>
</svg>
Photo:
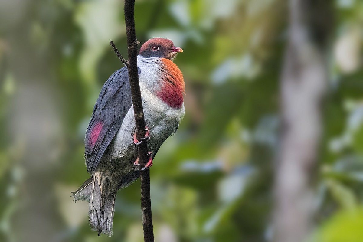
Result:
<svg viewBox="0 0 363 242">
<path fill-rule="evenodd" d="M 102 180 L 99 182 L 93 175 L 76 192 L 73 192 L 72 196 L 75 201 L 89 200 L 90 227 L 97 231 L 98 235 L 104 233 L 111 237 L 116 193 L 110 193 L 110 186 L 107 184 L 109 181 L 103 178 L 99 178 Z"/>
</svg>

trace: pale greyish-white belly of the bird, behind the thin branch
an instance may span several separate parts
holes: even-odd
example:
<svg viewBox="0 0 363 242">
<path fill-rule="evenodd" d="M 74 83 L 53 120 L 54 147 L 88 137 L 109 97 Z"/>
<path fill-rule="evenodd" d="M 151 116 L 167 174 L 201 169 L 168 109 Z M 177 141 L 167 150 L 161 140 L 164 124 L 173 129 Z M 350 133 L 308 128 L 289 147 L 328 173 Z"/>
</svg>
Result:
<svg viewBox="0 0 363 242">
<path fill-rule="evenodd" d="M 156 106 L 155 109 L 155 105 L 150 108 L 148 102 L 144 101 L 144 113 L 150 132 L 150 140 L 147 141 L 148 151 L 154 156 L 164 141 L 178 129 L 184 116 L 184 105 L 179 110 L 166 105 Z M 135 121 L 131 108 L 96 169 L 96 172 L 112 181 L 113 189 L 116 189 L 116 186 L 118 189 L 125 188 L 139 177 L 139 167 L 134 165 L 138 157 L 138 149 L 131 135 L 134 132 Z"/>
</svg>

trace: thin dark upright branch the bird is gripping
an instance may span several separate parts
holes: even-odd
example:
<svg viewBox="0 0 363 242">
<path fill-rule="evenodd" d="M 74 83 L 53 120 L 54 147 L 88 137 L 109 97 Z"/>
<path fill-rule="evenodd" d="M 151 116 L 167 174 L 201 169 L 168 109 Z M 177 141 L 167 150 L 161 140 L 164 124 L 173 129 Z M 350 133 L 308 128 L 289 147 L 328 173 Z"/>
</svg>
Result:
<svg viewBox="0 0 363 242">
<path fill-rule="evenodd" d="M 137 67 L 137 45 L 139 42 L 136 40 L 135 20 L 134 20 L 135 0 L 125 0 L 125 24 L 126 24 L 126 37 L 128 57 L 127 69 L 129 70 L 132 105 L 134 107 L 134 116 L 136 122 L 136 138 L 141 138 L 145 135 L 145 119 L 142 106 L 139 75 Z M 143 140 L 138 145 L 139 148 L 139 167 L 144 167 L 148 162 L 147 155 L 147 142 Z M 144 241 L 154 242 L 154 232 L 152 229 L 152 215 L 151 215 L 151 201 L 150 201 L 150 171 L 145 169 L 140 170 L 141 182 L 141 209 L 142 209 L 142 227 L 144 229 Z"/>
</svg>

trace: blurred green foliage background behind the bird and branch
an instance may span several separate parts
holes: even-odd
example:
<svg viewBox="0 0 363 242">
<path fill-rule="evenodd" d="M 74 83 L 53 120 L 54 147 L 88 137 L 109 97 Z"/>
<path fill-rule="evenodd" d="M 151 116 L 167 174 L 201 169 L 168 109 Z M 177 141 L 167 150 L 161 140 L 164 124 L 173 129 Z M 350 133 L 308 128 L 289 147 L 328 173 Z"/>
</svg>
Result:
<svg viewBox="0 0 363 242">
<path fill-rule="evenodd" d="M 334 0 L 325 134 L 311 241 L 363 241 L 363 2 Z M 140 42 L 183 48 L 185 118 L 151 168 L 156 241 L 260 242 L 273 233 L 282 0 L 137 0 Z M 114 235 L 87 202 L 84 135 L 127 56 L 121 0 L 0 1 L 0 241 L 143 241 L 139 181 L 120 190 Z"/>
</svg>

